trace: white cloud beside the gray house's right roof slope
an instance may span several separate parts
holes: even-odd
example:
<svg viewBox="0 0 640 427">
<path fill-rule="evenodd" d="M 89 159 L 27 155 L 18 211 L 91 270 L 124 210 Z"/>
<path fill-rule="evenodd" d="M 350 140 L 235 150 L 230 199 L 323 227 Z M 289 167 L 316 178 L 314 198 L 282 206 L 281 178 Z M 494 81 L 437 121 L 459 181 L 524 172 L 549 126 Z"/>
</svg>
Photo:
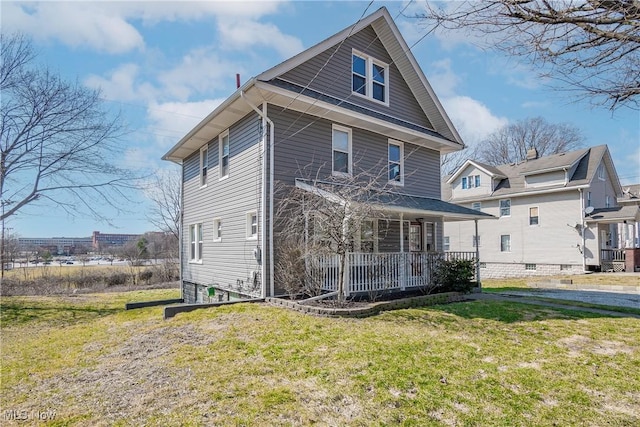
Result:
<svg viewBox="0 0 640 427">
<path fill-rule="evenodd" d="M 486 105 L 468 96 L 444 98 L 442 104 L 467 143 L 481 141 L 509 122 L 506 117 L 493 115 Z"/>
</svg>

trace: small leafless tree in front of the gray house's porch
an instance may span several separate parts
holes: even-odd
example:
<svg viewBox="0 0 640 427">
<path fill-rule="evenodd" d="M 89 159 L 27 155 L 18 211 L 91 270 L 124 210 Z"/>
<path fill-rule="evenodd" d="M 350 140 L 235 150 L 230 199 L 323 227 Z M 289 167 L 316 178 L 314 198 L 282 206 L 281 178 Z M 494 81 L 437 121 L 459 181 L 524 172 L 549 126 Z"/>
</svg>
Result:
<svg viewBox="0 0 640 427">
<path fill-rule="evenodd" d="M 308 168 L 302 176 L 308 176 L 305 172 Z M 322 180 L 317 174 L 313 179 L 299 180 L 298 185 L 279 183 L 276 280 L 291 293 L 318 294 L 324 278 L 316 267 L 327 255 L 337 259 L 337 298 L 343 302 L 347 254 L 363 239 L 378 237 L 366 224 L 373 218 L 384 219 L 379 208 L 381 199 L 388 202 L 393 197 L 385 189 L 387 173 L 386 169 L 382 174 L 363 171 L 352 177 L 329 176 Z"/>
</svg>

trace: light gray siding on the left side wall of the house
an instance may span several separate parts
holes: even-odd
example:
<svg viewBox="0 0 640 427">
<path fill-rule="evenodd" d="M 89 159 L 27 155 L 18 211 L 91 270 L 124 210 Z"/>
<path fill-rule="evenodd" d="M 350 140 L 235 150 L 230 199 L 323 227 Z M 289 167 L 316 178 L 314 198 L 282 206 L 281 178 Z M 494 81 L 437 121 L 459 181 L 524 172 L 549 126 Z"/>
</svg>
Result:
<svg viewBox="0 0 640 427">
<path fill-rule="evenodd" d="M 258 240 L 246 238 L 246 214 L 258 213 L 260 226 L 260 129 L 258 116 L 248 114 L 229 129 L 229 176 L 220 180 L 218 138 L 209 142 L 207 186 L 200 186 L 200 154 L 185 160 L 183 218 L 183 280 L 200 285 L 259 295 L 253 286 L 254 272 L 260 271 L 253 249 Z M 222 241 L 213 240 L 214 218 L 222 220 Z M 203 224 L 202 263 L 189 262 L 189 226 Z"/>
</svg>

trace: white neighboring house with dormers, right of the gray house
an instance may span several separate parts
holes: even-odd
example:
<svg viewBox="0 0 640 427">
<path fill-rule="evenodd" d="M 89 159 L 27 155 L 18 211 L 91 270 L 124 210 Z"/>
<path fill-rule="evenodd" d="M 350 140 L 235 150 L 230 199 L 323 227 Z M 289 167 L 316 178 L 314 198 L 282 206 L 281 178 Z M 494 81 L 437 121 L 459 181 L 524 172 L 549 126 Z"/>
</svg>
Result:
<svg viewBox="0 0 640 427">
<path fill-rule="evenodd" d="M 479 224 L 477 241 L 473 222 L 444 224 L 445 250 L 479 245 L 483 278 L 622 271 L 624 246 L 635 243 L 619 238 L 619 224 L 638 221 L 638 206 L 618 204 L 606 145 L 546 157 L 530 150 L 500 166 L 467 160 L 442 187 L 444 201 L 498 217 Z"/>
</svg>

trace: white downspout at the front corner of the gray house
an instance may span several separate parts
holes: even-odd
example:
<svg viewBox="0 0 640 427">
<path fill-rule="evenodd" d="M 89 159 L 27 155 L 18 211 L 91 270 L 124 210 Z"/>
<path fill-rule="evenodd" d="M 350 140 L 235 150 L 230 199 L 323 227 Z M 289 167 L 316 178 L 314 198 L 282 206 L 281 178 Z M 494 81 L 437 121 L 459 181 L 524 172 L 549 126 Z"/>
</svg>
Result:
<svg viewBox="0 0 640 427">
<path fill-rule="evenodd" d="M 267 148 L 266 148 L 266 137 L 267 137 L 267 129 L 266 126 L 264 126 L 265 122 L 269 123 L 269 130 L 270 130 L 270 139 L 269 139 L 269 147 L 270 147 L 270 187 L 269 187 L 269 284 L 270 284 L 270 295 L 273 296 L 274 294 L 274 284 L 273 284 L 273 134 L 274 134 L 274 130 L 273 130 L 273 122 L 271 121 L 271 119 L 269 119 L 269 117 L 267 117 L 266 114 L 266 109 L 267 109 L 267 104 L 266 102 L 262 104 L 262 108 L 264 111 L 260 111 L 258 109 L 258 107 L 256 107 L 255 105 L 253 105 L 251 103 L 251 101 L 249 101 L 244 94 L 244 91 L 240 91 L 240 97 L 262 118 L 262 183 L 260 184 L 260 186 L 262 187 L 260 189 L 261 192 L 261 198 L 262 198 L 262 218 L 261 218 L 261 251 L 262 251 L 262 255 L 261 255 L 261 266 L 260 266 L 260 275 L 262 276 L 262 297 L 266 297 L 267 295 L 267 289 L 264 285 L 264 280 L 267 278 L 267 266 L 266 266 L 266 262 L 265 262 L 265 258 L 266 258 L 266 251 L 265 251 L 265 242 L 267 240 L 267 203 L 266 203 L 266 199 L 267 199 L 267 189 L 265 186 L 265 182 L 267 181 L 267 162 L 266 162 L 266 152 L 267 152 Z"/>
</svg>

